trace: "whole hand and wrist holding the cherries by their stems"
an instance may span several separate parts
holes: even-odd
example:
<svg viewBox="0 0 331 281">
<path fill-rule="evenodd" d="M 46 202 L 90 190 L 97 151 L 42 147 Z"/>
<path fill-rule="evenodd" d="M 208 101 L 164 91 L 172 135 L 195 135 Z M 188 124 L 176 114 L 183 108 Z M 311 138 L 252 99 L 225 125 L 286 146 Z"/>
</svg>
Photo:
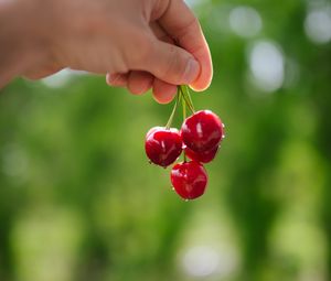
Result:
<svg viewBox="0 0 331 281">
<path fill-rule="evenodd" d="M 177 85 L 206 89 L 213 75 L 183 0 L 0 0 L 0 88 L 66 67 L 106 75 L 135 95 L 152 88 L 161 104 Z"/>
</svg>

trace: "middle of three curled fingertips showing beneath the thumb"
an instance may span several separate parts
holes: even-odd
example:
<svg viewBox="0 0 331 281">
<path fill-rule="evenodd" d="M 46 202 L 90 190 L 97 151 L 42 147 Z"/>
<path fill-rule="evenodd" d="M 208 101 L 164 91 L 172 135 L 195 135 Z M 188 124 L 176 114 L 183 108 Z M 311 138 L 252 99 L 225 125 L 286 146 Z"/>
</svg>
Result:
<svg viewBox="0 0 331 281">
<path fill-rule="evenodd" d="M 134 95 L 141 95 L 149 90 L 153 83 L 153 76 L 147 72 L 130 72 L 128 77 L 128 89 Z"/>
</svg>

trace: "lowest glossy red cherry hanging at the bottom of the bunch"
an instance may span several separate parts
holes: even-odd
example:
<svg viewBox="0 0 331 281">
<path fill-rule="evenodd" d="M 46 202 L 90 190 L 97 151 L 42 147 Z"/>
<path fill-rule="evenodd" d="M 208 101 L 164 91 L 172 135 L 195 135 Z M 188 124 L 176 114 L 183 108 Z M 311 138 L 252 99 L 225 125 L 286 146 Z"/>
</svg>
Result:
<svg viewBox="0 0 331 281">
<path fill-rule="evenodd" d="M 184 199 L 200 197 L 207 184 L 206 171 L 195 161 L 175 164 L 171 170 L 170 179 L 175 192 Z"/>
</svg>

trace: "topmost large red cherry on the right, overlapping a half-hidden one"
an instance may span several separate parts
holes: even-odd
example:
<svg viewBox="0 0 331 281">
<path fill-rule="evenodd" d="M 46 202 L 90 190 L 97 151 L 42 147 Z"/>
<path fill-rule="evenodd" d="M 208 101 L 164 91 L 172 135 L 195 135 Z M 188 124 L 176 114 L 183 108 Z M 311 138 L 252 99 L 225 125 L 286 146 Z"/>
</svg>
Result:
<svg viewBox="0 0 331 281">
<path fill-rule="evenodd" d="M 210 151 L 223 138 L 223 123 L 211 110 L 201 110 L 184 121 L 181 134 L 189 149 L 195 152 Z"/>
</svg>

